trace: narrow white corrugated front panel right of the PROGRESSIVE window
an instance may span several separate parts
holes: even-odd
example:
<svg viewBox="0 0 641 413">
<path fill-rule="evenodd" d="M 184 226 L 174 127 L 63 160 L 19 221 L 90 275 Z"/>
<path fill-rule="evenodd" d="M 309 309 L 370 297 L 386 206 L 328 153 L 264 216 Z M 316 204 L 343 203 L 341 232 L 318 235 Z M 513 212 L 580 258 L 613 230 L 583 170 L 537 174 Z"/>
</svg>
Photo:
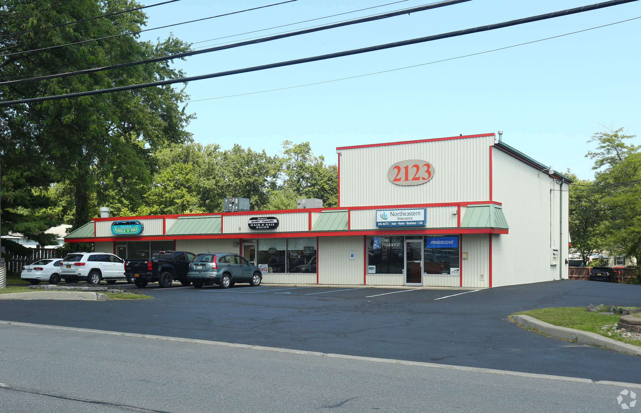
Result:
<svg viewBox="0 0 641 413">
<path fill-rule="evenodd" d="M 461 272 L 464 287 L 488 287 L 490 278 L 488 234 L 463 234 L 461 252 L 467 253 Z M 494 260 L 493 262 L 496 262 Z M 481 281 L 483 275 L 483 281 Z"/>
</svg>

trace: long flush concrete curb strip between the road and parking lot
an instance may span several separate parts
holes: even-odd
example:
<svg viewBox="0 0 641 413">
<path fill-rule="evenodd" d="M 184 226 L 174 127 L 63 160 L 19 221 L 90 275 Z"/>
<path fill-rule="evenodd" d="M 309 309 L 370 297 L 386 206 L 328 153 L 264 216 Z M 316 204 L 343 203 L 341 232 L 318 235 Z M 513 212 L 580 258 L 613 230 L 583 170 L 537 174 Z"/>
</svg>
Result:
<svg viewBox="0 0 641 413">
<path fill-rule="evenodd" d="M 210 341 L 210 340 L 179 338 L 179 337 L 169 337 L 169 336 L 152 336 L 147 334 L 136 334 L 132 332 L 79 329 L 76 327 L 62 327 L 58 325 L 10 322 L 10 321 L 4 321 L 4 320 L 0 320 L 0 324 L 11 324 L 11 325 L 18 325 L 21 327 L 40 327 L 44 329 L 56 329 L 56 330 L 67 330 L 67 331 L 93 332 L 98 334 L 112 334 L 114 336 L 152 338 L 152 339 L 167 340 L 167 341 L 183 341 L 184 343 L 198 343 L 198 344 L 204 344 L 204 345 L 238 347 L 238 348 L 247 348 L 249 350 L 263 350 L 263 351 L 289 353 L 289 354 L 314 355 L 314 356 L 320 356 L 320 357 L 331 357 L 336 359 L 350 359 L 350 360 L 358 360 L 358 361 L 385 362 L 385 363 L 391 363 L 391 364 L 404 364 L 406 366 L 444 368 L 447 370 L 474 371 L 477 373 L 491 373 L 491 374 L 501 374 L 501 375 L 510 375 L 510 376 L 519 376 L 519 377 L 547 378 L 552 380 L 564 380 L 569 382 L 581 382 L 581 383 L 588 383 L 588 384 L 606 384 L 608 386 L 620 386 L 620 387 L 641 389 L 641 384 L 637 384 L 637 383 L 611 382 L 608 380 L 595 381 L 595 380 L 590 380 L 589 378 L 554 376 L 554 375 L 537 374 L 537 373 L 524 373 L 522 371 L 494 370 L 490 368 L 480 368 L 480 367 L 455 366 L 453 364 L 436 364 L 436 363 L 422 362 L 422 361 L 381 359 L 379 357 L 363 357 L 360 355 L 310 352 L 306 350 L 295 350 L 293 348 L 265 347 L 265 346 L 255 346 L 255 345 L 247 345 L 247 344 L 240 344 L 240 343 L 226 343 L 224 341 Z"/>
</svg>

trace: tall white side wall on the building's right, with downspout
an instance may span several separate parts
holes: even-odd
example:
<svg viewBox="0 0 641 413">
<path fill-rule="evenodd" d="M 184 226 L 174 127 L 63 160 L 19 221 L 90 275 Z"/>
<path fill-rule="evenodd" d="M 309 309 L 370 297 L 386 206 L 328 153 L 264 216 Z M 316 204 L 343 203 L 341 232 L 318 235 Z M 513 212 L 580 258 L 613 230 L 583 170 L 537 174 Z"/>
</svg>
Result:
<svg viewBox="0 0 641 413">
<path fill-rule="evenodd" d="M 559 185 L 547 173 L 497 148 L 493 148 L 493 165 L 494 199 L 503 204 L 510 233 L 493 238 L 492 285 L 558 279 L 558 267 L 550 265 L 551 237 L 556 247 L 561 246 L 564 277 L 567 277 L 567 192 L 563 192 L 564 235 L 563 242 L 559 242 L 559 191 L 550 191 L 558 190 Z M 567 190 L 567 184 L 563 186 Z"/>
</svg>

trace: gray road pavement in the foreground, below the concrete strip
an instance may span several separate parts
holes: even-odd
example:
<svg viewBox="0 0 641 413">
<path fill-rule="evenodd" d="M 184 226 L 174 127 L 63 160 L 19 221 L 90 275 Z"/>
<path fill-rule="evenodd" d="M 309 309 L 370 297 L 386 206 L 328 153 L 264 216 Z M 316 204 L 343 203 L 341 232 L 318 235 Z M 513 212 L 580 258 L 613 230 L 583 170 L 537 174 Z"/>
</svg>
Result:
<svg viewBox="0 0 641 413">
<path fill-rule="evenodd" d="M 3 413 L 615 412 L 641 389 L 0 325 Z M 636 394 L 635 394 L 636 396 Z M 335 410 L 334 410 L 335 409 Z"/>
</svg>

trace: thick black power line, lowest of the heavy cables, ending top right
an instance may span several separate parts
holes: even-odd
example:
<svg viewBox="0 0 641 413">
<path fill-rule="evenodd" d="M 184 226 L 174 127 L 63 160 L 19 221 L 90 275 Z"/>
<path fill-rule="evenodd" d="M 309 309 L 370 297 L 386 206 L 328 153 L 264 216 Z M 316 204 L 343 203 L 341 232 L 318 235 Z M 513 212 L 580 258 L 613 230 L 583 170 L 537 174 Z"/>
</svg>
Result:
<svg viewBox="0 0 641 413">
<path fill-rule="evenodd" d="M 554 17 L 561 17 L 561 16 L 570 15 L 570 14 L 588 12 L 588 11 L 591 11 L 591 10 L 597 10 L 597 9 L 604 8 L 604 7 L 615 6 L 615 5 L 618 5 L 618 4 L 631 3 L 633 1 L 638 1 L 638 0 L 609 0 L 609 1 L 604 1 L 602 3 L 588 4 L 587 6 L 581 6 L 581 7 L 576 7 L 576 8 L 570 8 L 570 9 L 567 9 L 567 10 L 561 10 L 559 12 L 545 13 L 545 14 L 542 14 L 542 15 L 524 17 L 522 19 L 517 19 L 517 20 L 509 20 L 507 22 L 488 24 L 486 26 L 472 27 L 471 29 L 463 29 L 463 30 L 458 30 L 458 31 L 451 31 L 449 33 L 441 33 L 440 35 L 431 35 L 431 36 L 426 36 L 426 37 L 414 38 L 414 39 L 410 39 L 410 40 L 403 40 L 401 42 L 385 43 L 385 44 L 382 44 L 382 45 L 376 45 L 376 46 L 370 46 L 370 47 L 362 47 L 360 49 L 353 49 L 353 50 L 350 50 L 350 51 L 335 52 L 335 53 L 329 53 L 329 54 L 321 54 L 319 56 L 312 56 L 312 57 L 309 57 L 309 58 L 281 61 L 281 62 L 278 62 L 278 63 L 270 63 L 270 64 L 267 64 L 267 65 L 251 66 L 251 67 L 246 67 L 246 68 L 242 68 L 242 69 L 226 70 L 224 72 L 217 72 L 217 73 L 206 74 L 206 75 L 182 77 L 182 78 L 179 78 L 179 79 L 168 79 L 168 80 L 165 80 L 165 81 L 148 82 L 148 83 L 142 83 L 142 84 L 133 84 L 133 85 L 129 85 L 129 86 L 119 86 L 119 87 L 116 87 L 116 88 L 90 90 L 90 91 L 83 91 L 83 92 L 76 92 L 76 93 L 65 93 L 63 95 L 45 96 L 45 97 L 28 98 L 28 99 L 20 99 L 20 100 L 9 100 L 9 101 L 6 101 L 6 102 L 0 102 L 0 106 L 8 106 L 8 105 L 13 105 L 13 104 L 26 104 L 26 103 L 31 103 L 31 102 L 43 102 L 45 100 L 56 100 L 56 99 L 71 98 L 71 97 L 101 95 L 103 93 L 112 93 L 112 92 L 116 92 L 116 91 L 136 90 L 136 89 L 142 89 L 142 88 L 150 88 L 150 87 L 153 87 L 153 86 L 163 86 L 163 85 L 167 85 L 167 84 L 183 83 L 183 82 L 190 82 L 190 81 L 199 81 L 199 80 L 203 80 L 203 79 L 212 79 L 214 77 L 223 77 L 223 76 L 229 76 L 229 75 L 235 75 L 235 74 L 241 74 L 241 73 L 257 72 L 259 70 L 266 70 L 266 69 L 283 67 L 283 66 L 299 65 L 301 63 L 309 63 L 309 62 L 312 62 L 312 61 L 320 61 L 320 60 L 326 60 L 326 59 L 340 58 L 342 56 L 351 56 L 353 54 L 361 54 L 361 53 L 379 51 L 379 50 L 384 50 L 384 49 L 391 49 L 393 47 L 401 47 L 401 46 L 411 45 L 411 44 L 416 44 L 416 43 L 431 42 L 433 40 L 440 40 L 440 39 L 450 38 L 450 37 L 455 37 L 455 36 L 469 35 L 471 33 L 479 33 L 481 31 L 489 31 L 489 30 L 501 29 L 503 27 L 517 26 L 519 24 L 537 22 L 537 21 L 540 21 L 540 20 L 553 19 Z"/>
</svg>

